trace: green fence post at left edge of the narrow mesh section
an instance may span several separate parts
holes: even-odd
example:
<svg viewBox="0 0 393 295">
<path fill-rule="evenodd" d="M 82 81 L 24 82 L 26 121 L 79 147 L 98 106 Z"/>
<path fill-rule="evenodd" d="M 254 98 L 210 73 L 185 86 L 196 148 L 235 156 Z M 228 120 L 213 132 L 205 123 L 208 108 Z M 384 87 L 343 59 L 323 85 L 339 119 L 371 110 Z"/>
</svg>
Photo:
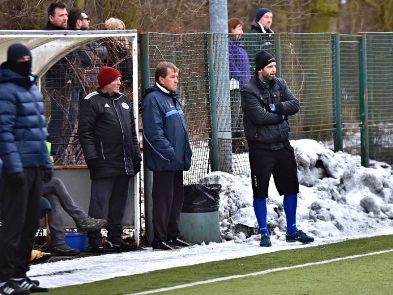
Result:
<svg viewBox="0 0 393 295">
<path fill-rule="evenodd" d="M 342 150 L 340 35 L 335 33 L 336 147 Z"/>
</svg>

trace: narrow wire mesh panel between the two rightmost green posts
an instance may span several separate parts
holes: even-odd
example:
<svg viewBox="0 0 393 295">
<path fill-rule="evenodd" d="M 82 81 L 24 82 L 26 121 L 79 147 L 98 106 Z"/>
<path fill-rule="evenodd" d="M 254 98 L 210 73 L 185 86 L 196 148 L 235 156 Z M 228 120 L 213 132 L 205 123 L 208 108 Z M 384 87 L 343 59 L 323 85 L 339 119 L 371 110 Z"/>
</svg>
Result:
<svg viewBox="0 0 393 295">
<path fill-rule="evenodd" d="M 340 38 L 343 151 L 361 155 L 359 36 Z"/>
</svg>

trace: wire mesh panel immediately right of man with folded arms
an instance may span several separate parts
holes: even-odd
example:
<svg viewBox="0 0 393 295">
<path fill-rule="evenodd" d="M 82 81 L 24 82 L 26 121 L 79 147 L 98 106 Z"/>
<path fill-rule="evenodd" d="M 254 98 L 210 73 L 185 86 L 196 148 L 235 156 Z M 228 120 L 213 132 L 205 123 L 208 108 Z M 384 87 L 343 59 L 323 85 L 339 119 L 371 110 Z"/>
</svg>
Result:
<svg viewBox="0 0 393 295">
<path fill-rule="evenodd" d="M 280 34 L 281 76 L 300 101 L 290 117 L 291 139 L 309 138 L 334 148 L 335 44 L 333 34 Z"/>
</svg>

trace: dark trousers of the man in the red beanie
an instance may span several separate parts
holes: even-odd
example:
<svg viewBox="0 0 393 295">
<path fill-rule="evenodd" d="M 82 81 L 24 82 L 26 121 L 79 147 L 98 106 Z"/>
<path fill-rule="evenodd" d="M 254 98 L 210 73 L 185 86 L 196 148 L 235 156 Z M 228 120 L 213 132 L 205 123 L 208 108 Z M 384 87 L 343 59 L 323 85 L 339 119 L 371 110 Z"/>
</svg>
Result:
<svg viewBox="0 0 393 295">
<path fill-rule="evenodd" d="M 89 216 L 93 218 L 105 219 L 108 211 L 108 224 L 121 225 L 128 198 L 128 186 L 130 177 L 112 176 L 91 180 L 91 198 Z M 91 238 L 96 238 L 97 233 L 87 232 Z"/>
</svg>

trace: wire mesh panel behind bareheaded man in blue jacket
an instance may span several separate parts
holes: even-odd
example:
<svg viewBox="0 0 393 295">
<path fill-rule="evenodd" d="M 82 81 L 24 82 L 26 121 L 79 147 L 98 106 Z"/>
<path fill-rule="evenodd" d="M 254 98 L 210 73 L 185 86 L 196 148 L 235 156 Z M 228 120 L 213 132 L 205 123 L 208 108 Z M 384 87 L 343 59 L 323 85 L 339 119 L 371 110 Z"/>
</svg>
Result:
<svg viewBox="0 0 393 295">
<path fill-rule="evenodd" d="M 161 61 L 170 61 L 179 69 L 180 94 L 193 150 L 192 167 L 184 182 L 197 181 L 209 172 L 211 110 L 207 56 L 207 34 L 149 33 L 150 84 Z"/>
</svg>

